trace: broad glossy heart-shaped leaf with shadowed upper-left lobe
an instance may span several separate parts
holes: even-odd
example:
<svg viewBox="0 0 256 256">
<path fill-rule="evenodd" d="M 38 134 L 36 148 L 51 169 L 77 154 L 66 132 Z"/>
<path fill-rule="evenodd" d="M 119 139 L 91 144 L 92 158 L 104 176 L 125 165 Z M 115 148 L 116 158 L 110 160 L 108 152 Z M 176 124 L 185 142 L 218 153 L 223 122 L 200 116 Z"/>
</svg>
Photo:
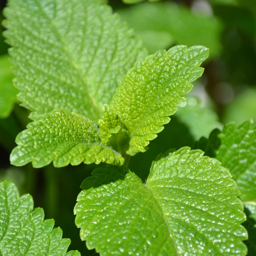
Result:
<svg viewBox="0 0 256 256">
<path fill-rule="evenodd" d="M 88 249 L 101 255 L 247 253 L 243 204 L 229 171 L 188 147 L 153 162 L 147 183 L 126 167 L 86 178 L 74 212 Z"/>
</svg>

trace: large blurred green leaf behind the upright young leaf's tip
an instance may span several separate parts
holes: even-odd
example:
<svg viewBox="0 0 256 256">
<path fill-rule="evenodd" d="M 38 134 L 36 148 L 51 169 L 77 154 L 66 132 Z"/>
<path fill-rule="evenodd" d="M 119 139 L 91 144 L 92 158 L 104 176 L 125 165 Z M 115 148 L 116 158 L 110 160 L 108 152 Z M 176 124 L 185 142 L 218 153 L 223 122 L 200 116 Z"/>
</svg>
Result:
<svg viewBox="0 0 256 256">
<path fill-rule="evenodd" d="M 220 53 L 222 24 L 214 16 L 193 12 L 171 1 L 143 2 L 117 12 L 135 29 L 150 53 L 176 44 L 204 45 L 210 49 L 210 57 Z"/>
</svg>

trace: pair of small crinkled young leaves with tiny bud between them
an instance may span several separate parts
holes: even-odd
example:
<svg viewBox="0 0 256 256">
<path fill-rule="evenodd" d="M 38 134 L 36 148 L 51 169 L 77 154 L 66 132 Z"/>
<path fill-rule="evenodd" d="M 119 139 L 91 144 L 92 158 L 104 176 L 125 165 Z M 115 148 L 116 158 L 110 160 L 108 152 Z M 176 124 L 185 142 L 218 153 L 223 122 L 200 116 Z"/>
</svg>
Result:
<svg viewBox="0 0 256 256">
<path fill-rule="evenodd" d="M 104 105 L 97 124 L 66 109 L 38 116 L 17 136 L 11 162 L 56 167 L 106 162 L 123 164 L 121 155 L 145 152 L 164 129 L 176 106 L 203 73 L 209 50 L 202 46 L 172 47 L 140 60 L 121 80 L 111 104 Z"/>
</svg>

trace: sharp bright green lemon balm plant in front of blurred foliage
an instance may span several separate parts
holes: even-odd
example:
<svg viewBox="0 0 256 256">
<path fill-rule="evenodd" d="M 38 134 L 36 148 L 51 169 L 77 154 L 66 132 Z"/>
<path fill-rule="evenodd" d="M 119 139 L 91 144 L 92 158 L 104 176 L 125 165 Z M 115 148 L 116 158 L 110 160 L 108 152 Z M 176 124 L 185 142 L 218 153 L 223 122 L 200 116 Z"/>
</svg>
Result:
<svg viewBox="0 0 256 256">
<path fill-rule="evenodd" d="M 255 213 L 254 123 L 199 140 L 208 156 L 182 147 L 148 159 L 145 183 L 128 168 L 202 75 L 206 47 L 177 45 L 147 56 L 140 39 L 100 0 L 9 0 L 4 15 L 18 99 L 33 120 L 17 135 L 11 163 L 106 163 L 83 180 L 74 207 L 88 249 L 101 255 L 247 254 L 241 224 L 244 205 L 252 220 Z M 44 220 L 42 209 L 33 209 L 30 195 L 19 197 L 7 181 L 0 194 L 2 255 L 80 254 L 67 253 L 69 239 Z"/>
</svg>

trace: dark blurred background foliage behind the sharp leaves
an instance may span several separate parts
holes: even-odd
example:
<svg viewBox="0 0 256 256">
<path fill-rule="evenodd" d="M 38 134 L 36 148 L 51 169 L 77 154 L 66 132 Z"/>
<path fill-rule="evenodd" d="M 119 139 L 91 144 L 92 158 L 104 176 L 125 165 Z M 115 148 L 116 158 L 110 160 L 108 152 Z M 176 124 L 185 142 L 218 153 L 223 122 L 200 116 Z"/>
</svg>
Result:
<svg viewBox="0 0 256 256">
<path fill-rule="evenodd" d="M 1 20 L 5 4 L 1 2 Z M 149 144 L 148 151 L 131 158 L 129 168 L 143 181 L 152 164 L 149 159 L 157 154 L 170 148 L 193 147 L 201 136 L 208 137 L 211 130 L 229 122 L 256 122 L 255 0 L 109 0 L 109 5 L 142 38 L 150 54 L 176 44 L 210 49 L 203 64 L 204 75 L 194 83 L 187 101 Z M 15 137 L 30 120 L 16 98 L 2 30 L 0 27 L 0 180 L 12 180 L 21 194 L 30 193 L 35 207 L 44 208 L 45 218 L 54 218 L 63 236 L 71 238 L 70 249 L 95 255 L 80 241 L 73 206 L 82 180 L 99 166 L 34 169 L 31 164 L 19 168 L 9 164 Z"/>
</svg>

